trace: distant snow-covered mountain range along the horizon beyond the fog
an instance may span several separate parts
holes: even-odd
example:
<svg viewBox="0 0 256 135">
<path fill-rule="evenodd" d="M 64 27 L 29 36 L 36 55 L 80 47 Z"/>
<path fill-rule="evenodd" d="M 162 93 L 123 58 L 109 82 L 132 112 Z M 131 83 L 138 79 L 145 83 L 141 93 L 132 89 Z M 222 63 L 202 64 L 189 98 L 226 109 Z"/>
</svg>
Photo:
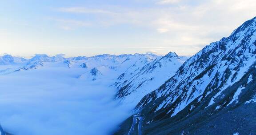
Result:
<svg viewBox="0 0 256 135">
<path fill-rule="evenodd" d="M 0 68 L 0 74 L 9 74 L 15 71 L 28 71 L 44 67 L 66 67 L 66 68 L 82 68 L 84 74 L 80 78 L 91 78 L 92 80 L 104 78 L 109 74 L 117 78 L 128 67 L 141 68 L 158 58 L 154 54 L 135 54 L 135 55 L 97 55 L 92 57 L 78 56 L 72 58 L 64 58 L 62 55 L 48 56 L 46 54 L 36 54 L 31 59 L 24 59 L 5 55 L 0 57 L 3 65 L 18 64 L 16 66 L 8 66 Z M 99 74 L 92 74 L 98 71 Z M 102 76 L 102 77 L 100 77 Z"/>
</svg>

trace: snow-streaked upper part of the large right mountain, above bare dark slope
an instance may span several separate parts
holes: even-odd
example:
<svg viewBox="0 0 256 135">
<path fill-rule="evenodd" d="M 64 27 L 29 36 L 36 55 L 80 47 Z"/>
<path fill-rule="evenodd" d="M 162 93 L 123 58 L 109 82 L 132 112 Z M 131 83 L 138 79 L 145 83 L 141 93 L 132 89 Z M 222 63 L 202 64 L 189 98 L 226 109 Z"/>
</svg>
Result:
<svg viewBox="0 0 256 135">
<path fill-rule="evenodd" d="M 186 93 L 184 94 L 186 97 L 183 98 L 189 101 L 203 94 L 206 88 L 209 89 L 207 86 L 213 85 L 216 80 L 223 80 L 222 83 L 216 82 L 218 86 L 234 83 L 256 60 L 255 34 L 256 22 L 254 18 L 237 28 L 228 38 L 222 38 L 220 41 L 204 47 L 195 56 L 187 60 L 176 72 L 176 75 L 169 79 L 163 87 L 148 96 L 156 99 L 156 97 L 168 95 L 170 92 L 175 93 L 172 96 L 180 96 L 180 91 L 184 86 L 187 87 L 186 89 L 194 87 L 193 91 L 189 91 L 192 93 L 188 93 L 188 90 L 183 91 Z M 210 84 L 209 79 L 212 79 Z M 186 85 L 186 83 L 188 84 Z M 221 89 L 221 87 L 218 88 Z M 196 94 L 196 92 L 199 92 L 197 96 L 193 98 L 189 96 Z M 172 97 L 172 99 L 176 98 Z M 172 103 L 175 100 L 169 102 Z"/>
</svg>

